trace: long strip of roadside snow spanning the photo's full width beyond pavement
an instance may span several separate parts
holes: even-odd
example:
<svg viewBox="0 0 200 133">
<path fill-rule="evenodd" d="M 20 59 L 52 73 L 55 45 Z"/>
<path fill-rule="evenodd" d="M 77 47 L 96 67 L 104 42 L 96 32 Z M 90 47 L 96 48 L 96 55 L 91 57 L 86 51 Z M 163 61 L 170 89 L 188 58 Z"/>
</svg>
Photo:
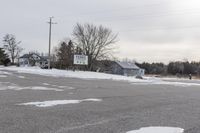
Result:
<svg viewBox="0 0 200 133">
<path fill-rule="evenodd" d="M 113 74 L 97 73 L 97 72 L 88 72 L 88 71 L 67 71 L 67 70 L 58 70 L 58 69 L 40 69 L 38 67 L 0 67 L 0 70 L 15 71 L 18 73 L 29 73 L 29 74 L 39 74 L 43 76 L 53 76 L 53 77 L 70 77 L 70 78 L 80 78 L 80 79 L 111 79 L 117 81 L 128 81 L 133 84 L 154 84 L 154 85 L 173 85 L 173 86 L 200 86 L 200 83 L 186 83 L 184 81 L 170 82 L 164 81 L 161 78 L 153 77 L 144 77 L 144 79 L 136 79 L 135 77 L 126 77 Z M 47 84 L 46 84 L 47 85 Z M 58 86 L 55 86 L 58 87 Z M 58 88 L 64 88 L 60 86 Z M 73 89 L 73 88 L 71 88 Z"/>
</svg>

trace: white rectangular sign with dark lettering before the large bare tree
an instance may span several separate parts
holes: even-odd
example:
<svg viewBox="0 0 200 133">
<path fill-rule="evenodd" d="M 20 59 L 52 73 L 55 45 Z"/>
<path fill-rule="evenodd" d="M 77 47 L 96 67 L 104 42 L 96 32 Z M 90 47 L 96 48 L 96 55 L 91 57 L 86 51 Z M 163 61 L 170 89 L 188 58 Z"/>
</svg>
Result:
<svg viewBox="0 0 200 133">
<path fill-rule="evenodd" d="M 86 55 L 74 55 L 75 65 L 88 65 L 88 56 Z"/>
</svg>

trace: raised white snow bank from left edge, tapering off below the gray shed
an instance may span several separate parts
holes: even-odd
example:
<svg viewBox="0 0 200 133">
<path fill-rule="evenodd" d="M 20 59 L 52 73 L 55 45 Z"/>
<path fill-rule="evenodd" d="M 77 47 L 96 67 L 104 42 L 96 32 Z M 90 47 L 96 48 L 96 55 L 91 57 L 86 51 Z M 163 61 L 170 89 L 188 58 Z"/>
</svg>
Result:
<svg viewBox="0 0 200 133">
<path fill-rule="evenodd" d="M 112 79 L 112 80 L 126 80 L 131 82 L 141 82 L 142 80 L 136 79 L 134 77 L 125 77 L 119 75 L 88 72 L 88 71 L 67 71 L 58 69 L 40 69 L 38 67 L 4 67 L 0 70 L 16 71 L 18 73 L 29 73 L 29 74 L 39 74 L 43 76 L 53 76 L 53 77 L 71 77 L 71 78 L 81 78 L 81 79 Z"/>
</svg>

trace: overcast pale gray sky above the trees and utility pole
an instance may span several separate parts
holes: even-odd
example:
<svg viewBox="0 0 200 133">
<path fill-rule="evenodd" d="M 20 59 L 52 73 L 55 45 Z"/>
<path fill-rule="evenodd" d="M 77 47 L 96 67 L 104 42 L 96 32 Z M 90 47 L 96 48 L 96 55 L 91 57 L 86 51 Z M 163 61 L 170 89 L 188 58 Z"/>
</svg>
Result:
<svg viewBox="0 0 200 133">
<path fill-rule="evenodd" d="M 199 0 L 0 0 L 0 38 L 14 34 L 24 52 L 48 52 L 50 16 L 53 46 L 77 22 L 93 23 L 119 34 L 118 58 L 200 61 Z"/>
</svg>

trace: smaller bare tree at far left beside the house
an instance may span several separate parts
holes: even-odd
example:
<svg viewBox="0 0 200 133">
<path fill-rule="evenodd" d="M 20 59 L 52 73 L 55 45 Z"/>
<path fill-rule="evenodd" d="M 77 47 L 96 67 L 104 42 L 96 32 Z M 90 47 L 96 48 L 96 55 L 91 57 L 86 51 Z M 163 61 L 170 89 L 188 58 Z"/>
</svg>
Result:
<svg viewBox="0 0 200 133">
<path fill-rule="evenodd" d="M 11 62 L 14 63 L 15 59 L 19 56 L 19 53 L 23 50 L 19 44 L 21 41 L 17 41 L 12 34 L 6 34 L 3 37 L 4 48 L 10 54 Z"/>
</svg>

